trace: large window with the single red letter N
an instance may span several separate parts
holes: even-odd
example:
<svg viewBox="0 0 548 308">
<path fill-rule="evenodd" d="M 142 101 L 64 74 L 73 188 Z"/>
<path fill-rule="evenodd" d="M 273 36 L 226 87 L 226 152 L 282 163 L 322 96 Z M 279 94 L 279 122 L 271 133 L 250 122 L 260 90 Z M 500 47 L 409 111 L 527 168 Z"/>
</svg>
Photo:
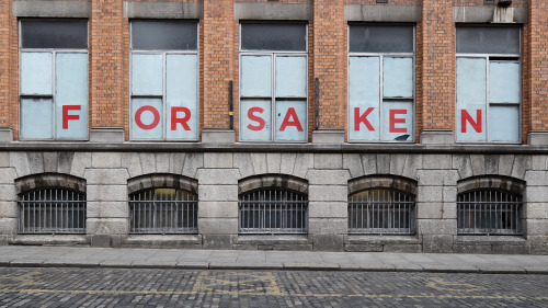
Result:
<svg viewBox="0 0 548 308">
<path fill-rule="evenodd" d="M 458 141 L 521 140 L 521 30 L 457 27 Z"/>
</svg>

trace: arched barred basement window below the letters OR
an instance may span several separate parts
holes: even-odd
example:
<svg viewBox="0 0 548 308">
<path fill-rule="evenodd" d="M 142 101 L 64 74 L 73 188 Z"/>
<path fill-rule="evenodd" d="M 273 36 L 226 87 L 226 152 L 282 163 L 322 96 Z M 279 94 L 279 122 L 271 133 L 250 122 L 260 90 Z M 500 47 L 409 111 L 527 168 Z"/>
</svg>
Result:
<svg viewBox="0 0 548 308">
<path fill-rule="evenodd" d="M 197 233 L 197 181 L 174 174 L 130 179 L 130 233 Z"/>
</svg>

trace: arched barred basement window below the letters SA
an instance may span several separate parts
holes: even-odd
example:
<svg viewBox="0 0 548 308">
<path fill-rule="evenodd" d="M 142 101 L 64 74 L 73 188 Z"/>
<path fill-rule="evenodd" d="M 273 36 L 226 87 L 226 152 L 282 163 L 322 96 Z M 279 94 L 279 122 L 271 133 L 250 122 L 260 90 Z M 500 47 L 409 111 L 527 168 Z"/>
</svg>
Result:
<svg viewBox="0 0 548 308">
<path fill-rule="evenodd" d="M 307 233 L 308 183 L 289 175 L 248 178 L 239 185 L 240 233 Z"/>
</svg>

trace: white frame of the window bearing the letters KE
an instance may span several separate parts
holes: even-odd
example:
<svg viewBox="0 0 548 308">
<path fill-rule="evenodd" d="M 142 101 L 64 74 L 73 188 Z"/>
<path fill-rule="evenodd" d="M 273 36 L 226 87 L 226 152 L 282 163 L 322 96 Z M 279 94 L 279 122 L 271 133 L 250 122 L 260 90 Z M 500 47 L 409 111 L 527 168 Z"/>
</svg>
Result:
<svg viewBox="0 0 548 308">
<path fill-rule="evenodd" d="M 366 26 L 386 26 L 386 25 L 392 25 L 392 24 L 365 24 Z M 349 142 L 351 144 L 378 144 L 378 142 L 392 142 L 392 144 L 413 144 L 414 142 L 414 136 L 415 136 L 415 123 L 416 123 L 416 119 L 415 119 L 415 115 L 416 115 L 416 93 L 415 93 L 415 88 L 416 88 L 416 83 L 415 83 L 415 75 L 416 75 L 416 65 L 415 65 L 415 55 L 416 55 L 416 26 L 415 25 L 411 25 L 411 24 L 393 24 L 393 25 L 401 25 L 401 26 L 411 26 L 413 28 L 413 53 L 355 53 L 355 52 L 351 52 L 350 50 L 350 42 L 346 44 L 346 52 L 349 54 L 347 56 L 347 59 L 346 59 L 346 100 L 347 100 L 347 103 L 346 103 L 346 117 L 347 117 L 347 129 L 350 132 L 350 129 L 354 126 L 354 123 L 352 122 L 353 117 L 351 116 L 352 115 L 352 111 L 351 111 L 351 106 L 350 106 L 350 58 L 351 57 L 379 57 L 379 61 L 380 61 L 380 65 L 379 65 L 379 87 L 380 87 L 380 91 L 379 91 L 379 139 L 378 140 L 357 140 L 357 139 L 351 139 L 349 138 Z M 350 39 L 350 27 L 352 26 L 352 24 L 349 24 L 347 28 L 346 28 L 346 37 L 349 37 Z M 412 66 L 412 98 L 390 98 L 390 96 L 387 96 L 385 98 L 384 96 L 384 58 L 385 57 L 389 57 L 389 58 L 412 58 L 412 61 L 413 61 L 413 66 Z M 384 134 L 385 134 L 385 129 L 384 129 L 384 101 L 395 101 L 395 102 L 409 102 L 411 101 L 412 103 L 412 123 L 411 123 L 411 127 L 412 127 L 412 132 L 409 134 L 410 135 L 410 138 L 409 140 L 404 140 L 404 141 L 397 141 L 397 140 L 384 140 Z M 347 136 L 350 137 L 350 133 L 346 133 Z"/>
</svg>

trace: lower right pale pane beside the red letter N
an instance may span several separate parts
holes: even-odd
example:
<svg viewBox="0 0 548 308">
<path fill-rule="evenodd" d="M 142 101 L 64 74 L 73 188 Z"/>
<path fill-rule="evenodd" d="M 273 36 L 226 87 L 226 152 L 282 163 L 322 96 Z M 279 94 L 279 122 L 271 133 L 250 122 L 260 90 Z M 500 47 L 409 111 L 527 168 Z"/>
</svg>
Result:
<svg viewBox="0 0 548 308">
<path fill-rule="evenodd" d="M 490 141 L 520 141 L 520 107 L 491 106 L 489 109 Z"/>
</svg>

